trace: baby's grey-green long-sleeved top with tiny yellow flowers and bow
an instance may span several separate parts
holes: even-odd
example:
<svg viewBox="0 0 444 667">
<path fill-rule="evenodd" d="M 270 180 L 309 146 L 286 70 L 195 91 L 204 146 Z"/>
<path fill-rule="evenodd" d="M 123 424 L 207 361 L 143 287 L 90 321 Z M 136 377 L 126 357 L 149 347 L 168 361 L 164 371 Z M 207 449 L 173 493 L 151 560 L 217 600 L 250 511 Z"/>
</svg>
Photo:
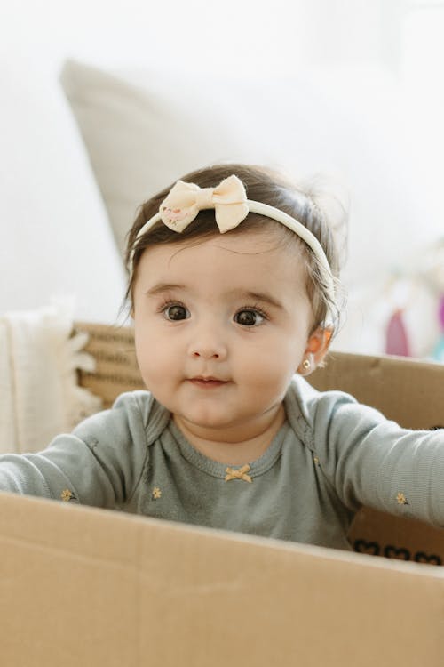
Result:
<svg viewBox="0 0 444 667">
<path fill-rule="evenodd" d="M 191 446 L 147 391 L 123 394 L 39 454 L 0 456 L 0 490 L 349 549 L 367 505 L 444 526 L 444 430 L 412 431 L 300 377 L 248 466 Z"/>
</svg>

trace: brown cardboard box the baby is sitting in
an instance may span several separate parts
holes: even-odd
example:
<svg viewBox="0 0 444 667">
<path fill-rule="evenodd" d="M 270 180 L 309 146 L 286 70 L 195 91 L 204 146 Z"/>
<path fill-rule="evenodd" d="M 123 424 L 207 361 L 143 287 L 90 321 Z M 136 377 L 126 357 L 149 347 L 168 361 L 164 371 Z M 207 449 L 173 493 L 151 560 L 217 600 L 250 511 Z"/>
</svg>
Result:
<svg viewBox="0 0 444 667">
<path fill-rule="evenodd" d="M 131 330 L 79 327 L 98 361 L 84 386 L 107 404 L 140 386 Z M 442 423 L 443 366 L 335 354 L 313 383 L 412 425 Z M 380 554 L 411 537 L 410 558 L 444 557 L 442 531 L 392 532 L 385 519 L 364 511 L 353 529 L 374 535 Z M 444 662 L 442 567 L 10 494 L 0 497 L 0 554 L 4 667 Z"/>
</svg>

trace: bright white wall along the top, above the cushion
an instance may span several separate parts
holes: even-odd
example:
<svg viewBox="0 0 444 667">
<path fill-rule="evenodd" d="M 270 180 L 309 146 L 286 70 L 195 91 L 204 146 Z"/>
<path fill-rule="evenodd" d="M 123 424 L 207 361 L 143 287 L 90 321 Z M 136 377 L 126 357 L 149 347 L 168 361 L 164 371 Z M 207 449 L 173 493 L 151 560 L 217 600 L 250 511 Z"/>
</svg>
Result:
<svg viewBox="0 0 444 667">
<path fill-rule="evenodd" d="M 401 0 L 10 0 L 0 48 L 56 66 L 67 53 L 97 64 L 170 63 L 233 73 L 293 73 L 335 62 L 398 58 Z"/>
</svg>

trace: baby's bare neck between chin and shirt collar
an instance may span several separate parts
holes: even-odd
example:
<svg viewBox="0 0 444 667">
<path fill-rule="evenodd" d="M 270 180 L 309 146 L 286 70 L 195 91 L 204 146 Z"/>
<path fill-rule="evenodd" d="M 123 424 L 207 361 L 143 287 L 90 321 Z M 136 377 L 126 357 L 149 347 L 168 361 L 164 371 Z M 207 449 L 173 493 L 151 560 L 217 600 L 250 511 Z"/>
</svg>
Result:
<svg viewBox="0 0 444 667">
<path fill-rule="evenodd" d="M 201 454 L 219 463 L 238 466 L 256 461 L 264 454 L 285 422 L 285 410 L 283 405 L 279 406 L 270 420 L 258 425 L 253 434 L 249 430 L 243 433 L 242 430 L 236 430 L 235 436 L 231 432 L 223 434 L 220 431 L 212 433 L 208 429 L 201 430 L 178 415 L 173 418 L 188 442 Z"/>
</svg>

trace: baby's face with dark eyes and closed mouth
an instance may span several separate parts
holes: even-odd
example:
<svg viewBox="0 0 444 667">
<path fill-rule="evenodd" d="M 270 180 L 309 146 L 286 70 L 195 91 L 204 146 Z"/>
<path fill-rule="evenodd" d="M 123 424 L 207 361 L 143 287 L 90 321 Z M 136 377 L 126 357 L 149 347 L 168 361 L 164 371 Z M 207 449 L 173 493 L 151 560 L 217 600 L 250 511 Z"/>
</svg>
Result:
<svg viewBox="0 0 444 667">
<path fill-rule="evenodd" d="M 273 419 L 312 318 L 293 245 L 259 232 L 157 245 L 140 260 L 133 297 L 142 377 L 188 429 L 253 437 Z"/>
</svg>

